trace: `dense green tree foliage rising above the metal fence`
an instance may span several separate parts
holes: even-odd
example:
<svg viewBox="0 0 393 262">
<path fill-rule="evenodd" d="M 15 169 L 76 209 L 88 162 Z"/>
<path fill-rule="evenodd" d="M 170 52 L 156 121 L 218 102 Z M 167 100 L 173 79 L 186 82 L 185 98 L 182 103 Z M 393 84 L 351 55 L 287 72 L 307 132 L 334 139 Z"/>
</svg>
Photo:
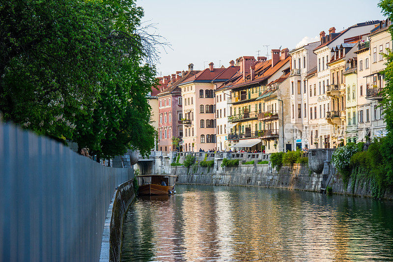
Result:
<svg viewBox="0 0 393 262">
<path fill-rule="evenodd" d="M 142 17 L 135 0 L 2 0 L 4 120 L 100 157 L 148 153 L 155 130 L 146 96 L 157 81 L 146 61 L 158 42 Z"/>
</svg>

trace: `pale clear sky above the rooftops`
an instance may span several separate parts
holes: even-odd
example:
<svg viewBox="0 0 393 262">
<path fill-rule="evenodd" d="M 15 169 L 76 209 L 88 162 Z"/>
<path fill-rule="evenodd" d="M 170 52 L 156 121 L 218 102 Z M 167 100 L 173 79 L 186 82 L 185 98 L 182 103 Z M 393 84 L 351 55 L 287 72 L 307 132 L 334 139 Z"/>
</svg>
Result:
<svg viewBox="0 0 393 262">
<path fill-rule="evenodd" d="M 158 76 L 188 69 L 227 67 L 241 56 L 294 49 L 336 31 L 384 16 L 379 0 L 137 0 L 145 23 L 170 44 L 159 49 Z M 267 45 L 267 47 L 266 47 Z"/>
</svg>

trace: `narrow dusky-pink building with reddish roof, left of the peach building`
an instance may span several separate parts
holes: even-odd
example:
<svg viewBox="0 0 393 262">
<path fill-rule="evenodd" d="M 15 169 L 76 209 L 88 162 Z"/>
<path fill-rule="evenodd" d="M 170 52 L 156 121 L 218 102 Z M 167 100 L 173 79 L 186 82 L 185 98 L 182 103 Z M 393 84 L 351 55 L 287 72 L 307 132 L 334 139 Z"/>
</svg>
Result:
<svg viewBox="0 0 393 262">
<path fill-rule="evenodd" d="M 181 97 L 181 89 L 178 85 L 196 75 L 199 71 L 194 71 L 189 67 L 189 71 L 177 71 L 171 76 L 164 76 L 160 79 L 158 98 L 159 125 L 158 138 L 160 151 L 176 151 L 181 149 L 181 141 L 183 138 L 183 100 Z M 173 148 L 173 139 L 179 139 L 179 146 Z"/>
</svg>

